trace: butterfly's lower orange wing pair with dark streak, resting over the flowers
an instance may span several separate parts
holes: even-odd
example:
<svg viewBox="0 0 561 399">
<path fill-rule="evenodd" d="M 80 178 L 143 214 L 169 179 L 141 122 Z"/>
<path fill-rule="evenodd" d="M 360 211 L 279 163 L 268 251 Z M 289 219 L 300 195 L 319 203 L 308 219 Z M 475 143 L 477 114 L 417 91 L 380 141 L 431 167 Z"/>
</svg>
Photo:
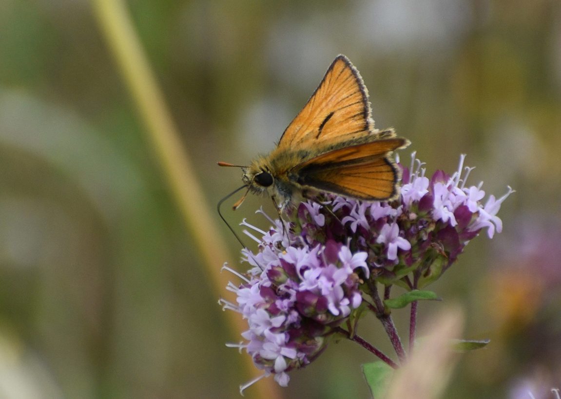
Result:
<svg viewBox="0 0 561 399">
<path fill-rule="evenodd" d="M 397 193 L 399 169 L 388 151 L 408 145 L 403 138 L 376 140 L 329 151 L 293 168 L 297 183 L 342 196 L 375 201 Z"/>
</svg>

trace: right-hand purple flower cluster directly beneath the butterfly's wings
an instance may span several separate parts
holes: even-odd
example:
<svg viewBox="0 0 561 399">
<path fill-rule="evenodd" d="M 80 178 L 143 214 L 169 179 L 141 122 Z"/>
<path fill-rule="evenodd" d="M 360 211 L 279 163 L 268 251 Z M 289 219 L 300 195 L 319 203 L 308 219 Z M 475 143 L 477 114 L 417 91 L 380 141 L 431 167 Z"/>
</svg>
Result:
<svg viewBox="0 0 561 399">
<path fill-rule="evenodd" d="M 410 168 L 400 165 L 403 186 L 396 201 L 328 197 L 323 203 L 331 212 L 304 202 L 289 214 L 293 231 L 305 243 L 348 242 L 353 253 L 367 253 L 373 280 L 419 289 L 438 279 L 482 229 L 489 238 L 502 230 L 496 214 L 512 189 L 483 204 L 481 183 L 466 185 L 473 168 L 463 168 L 464 159 L 452 176 L 438 170 L 429 179 L 413 154 Z"/>
</svg>

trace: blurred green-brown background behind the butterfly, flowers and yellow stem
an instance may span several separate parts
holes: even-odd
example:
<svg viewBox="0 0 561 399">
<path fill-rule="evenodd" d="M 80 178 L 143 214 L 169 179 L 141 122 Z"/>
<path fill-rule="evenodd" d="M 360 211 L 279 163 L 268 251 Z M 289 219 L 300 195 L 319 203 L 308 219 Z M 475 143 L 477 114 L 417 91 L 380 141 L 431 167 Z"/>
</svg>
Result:
<svg viewBox="0 0 561 399">
<path fill-rule="evenodd" d="M 420 304 L 420 319 L 455 303 L 463 337 L 491 339 L 462 356 L 447 397 L 561 385 L 559 1 L 127 7 L 217 225 L 240 171 L 216 161 L 271 149 L 339 53 L 364 77 L 376 126 L 411 140 L 402 159 L 414 150 L 429 173 L 452 172 L 465 153 L 473 184 L 515 188 L 503 233 L 466 248 L 431 287 L 444 304 Z M 201 260 L 147 129 L 92 3 L 0 1 L 1 397 L 226 398 L 249 378 L 224 346 L 239 339 L 217 305 L 228 293 L 205 271 L 222 264 Z M 265 225 L 261 204 L 224 210 L 234 226 Z M 237 259 L 218 226 L 206 245 L 225 239 Z M 376 321 L 361 333 L 390 352 Z M 281 392 L 367 397 L 359 365 L 371 360 L 339 342 Z"/>
</svg>

